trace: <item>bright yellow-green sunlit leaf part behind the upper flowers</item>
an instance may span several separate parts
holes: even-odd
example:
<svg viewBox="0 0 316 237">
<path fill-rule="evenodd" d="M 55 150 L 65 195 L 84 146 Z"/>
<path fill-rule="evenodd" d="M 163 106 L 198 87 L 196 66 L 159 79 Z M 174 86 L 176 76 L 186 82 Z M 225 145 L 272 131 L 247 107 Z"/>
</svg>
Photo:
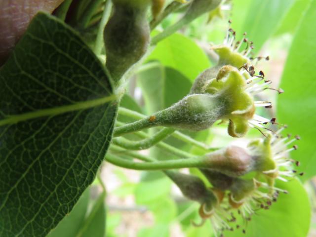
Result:
<svg viewBox="0 0 316 237">
<path fill-rule="evenodd" d="M 164 66 L 176 69 L 191 81 L 210 67 L 205 53 L 193 40 L 181 34 L 173 34 L 161 40 L 147 60 L 159 60 Z"/>
</svg>

